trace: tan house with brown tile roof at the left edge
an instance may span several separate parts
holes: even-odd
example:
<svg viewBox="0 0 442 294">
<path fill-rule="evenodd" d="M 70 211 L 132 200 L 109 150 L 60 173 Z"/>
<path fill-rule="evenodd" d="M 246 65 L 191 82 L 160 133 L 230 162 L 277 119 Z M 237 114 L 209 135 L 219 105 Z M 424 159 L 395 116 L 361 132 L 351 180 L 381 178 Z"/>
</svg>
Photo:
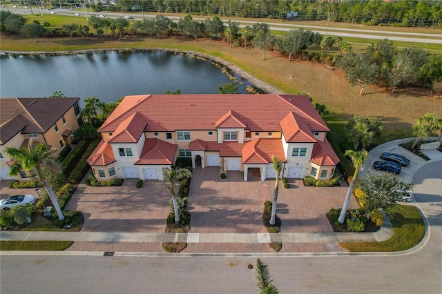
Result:
<svg viewBox="0 0 442 294">
<path fill-rule="evenodd" d="M 8 177 L 13 161 L 6 147 L 26 146 L 30 139 L 61 150 L 73 141 L 73 132 L 82 124 L 79 98 L 1 98 L 0 168 L 1 179 Z M 30 181 L 24 171 L 15 179 Z"/>
</svg>

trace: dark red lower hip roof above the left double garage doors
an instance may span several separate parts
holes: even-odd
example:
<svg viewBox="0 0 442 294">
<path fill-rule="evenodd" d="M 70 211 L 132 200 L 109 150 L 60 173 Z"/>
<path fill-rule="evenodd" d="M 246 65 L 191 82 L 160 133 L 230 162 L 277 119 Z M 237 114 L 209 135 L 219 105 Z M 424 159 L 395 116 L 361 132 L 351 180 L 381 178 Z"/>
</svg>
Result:
<svg viewBox="0 0 442 294">
<path fill-rule="evenodd" d="M 170 144 L 157 138 L 148 138 L 144 141 L 140 159 L 135 164 L 173 164 L 177 145 Z"/>
</svg>

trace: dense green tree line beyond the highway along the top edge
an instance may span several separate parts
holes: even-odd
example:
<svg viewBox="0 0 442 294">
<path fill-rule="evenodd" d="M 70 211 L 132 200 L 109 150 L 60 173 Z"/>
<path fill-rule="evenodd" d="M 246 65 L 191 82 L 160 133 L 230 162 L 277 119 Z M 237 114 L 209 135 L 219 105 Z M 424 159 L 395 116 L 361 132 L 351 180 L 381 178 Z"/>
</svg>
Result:
<svg viewBox="0 0 442 294">
<path fill-rule="evenodd" d="M 429 26 L 442 24 L 441 1 L 317 1 L 317 0 L 120 0 L 108 10 L 218 15 L 218 17 L 296 19 L 364 23 L 369 26 Z"/>
</svg>

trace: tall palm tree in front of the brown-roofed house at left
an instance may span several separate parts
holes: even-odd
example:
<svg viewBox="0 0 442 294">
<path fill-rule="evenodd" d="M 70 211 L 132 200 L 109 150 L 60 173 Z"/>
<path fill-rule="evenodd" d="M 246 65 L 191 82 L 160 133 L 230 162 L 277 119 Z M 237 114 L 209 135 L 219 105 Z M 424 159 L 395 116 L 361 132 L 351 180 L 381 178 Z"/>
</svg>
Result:
<svg viewBox="0 0 442 294">
<path fill-rule="evenodd" d="M 58 150 L 50 149 L 46 144 L 38 144 L 34 146 L 33 140 L 29 141 L 28 147 L 7 147 L 5 153 L 12 159 L 16 159 L 12 164 L 9 172 L 9 176 L 17 175 L 20 170 L 29 170 L 35 172 L 41 184 L 44 184 L 50 200 L 52 201 L 55 210 L 57 211 L 58 219 L 64 219 L 63 213 L 61 213 L 60 206 L 58 205 L 57 197 L 55 197 L 54 191 L 50 187 L 48 180 L 45 177 L 45 171 L 47 168 L 57 170 L 61 172 L 61 168 L 58 164 L 55 153 Z"/>
</svg>

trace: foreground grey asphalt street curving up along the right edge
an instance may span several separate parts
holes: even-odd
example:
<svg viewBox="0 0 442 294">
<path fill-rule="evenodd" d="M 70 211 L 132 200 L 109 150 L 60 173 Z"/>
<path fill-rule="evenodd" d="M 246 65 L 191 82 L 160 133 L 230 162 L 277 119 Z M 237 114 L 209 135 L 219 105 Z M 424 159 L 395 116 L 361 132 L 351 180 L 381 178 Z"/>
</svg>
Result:
<svg viewBox="0 0 442 294">
<path fill-rule="evenodd" d="M 430 161 L 410 177 L 430 224 L 421 246 L 401 253 L 261 255 L 278 291 L 441 293 L 441 166 L 442 160 Z M 248 268 L 256 257 L 1 255 L 0 292 L 257 293 L 255 270 Z"/>
</svg>

